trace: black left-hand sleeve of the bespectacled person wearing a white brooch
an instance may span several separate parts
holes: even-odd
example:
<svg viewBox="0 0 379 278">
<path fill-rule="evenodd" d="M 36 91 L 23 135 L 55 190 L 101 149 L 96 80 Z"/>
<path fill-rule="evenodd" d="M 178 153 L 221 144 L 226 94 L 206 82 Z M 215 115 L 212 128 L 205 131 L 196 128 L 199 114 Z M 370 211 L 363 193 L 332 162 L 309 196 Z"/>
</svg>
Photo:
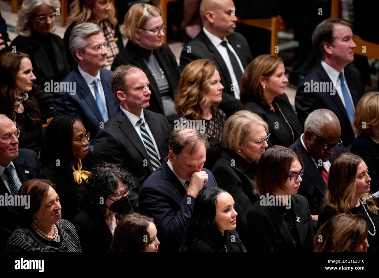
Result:
<svg viewBox="0 0 379 278">
<path fill-rule="evenodd" d="M 260 211 L 251 210 L 247 213 L 247 234 L 249 252 L 274 252 L 268 219 Z"/>
</svg>

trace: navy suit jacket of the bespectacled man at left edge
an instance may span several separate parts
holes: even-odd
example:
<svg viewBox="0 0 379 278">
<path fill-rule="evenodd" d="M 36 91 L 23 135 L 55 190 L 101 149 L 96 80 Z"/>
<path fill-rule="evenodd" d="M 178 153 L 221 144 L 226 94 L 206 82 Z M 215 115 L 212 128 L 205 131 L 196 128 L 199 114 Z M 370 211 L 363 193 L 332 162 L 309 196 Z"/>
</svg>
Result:
<svg viewBox="0 0 379 278">
<path fill-rule="evenodd" d="M 19 149 L 19 156 L 12 161 L 21 183 L 42 176 L 41 164 L 36 152 L 30 149 Z M 3 180 L 0 179 L 0 195 L 5 196 L 5 193 L 8 196 L 11 195 Z M 9 237 L 11 232 L 20 224 L 16 208 L 14 206 L 0 206 L 0 228 L 2 229 L 0 250 L 2 247 L 5 248 L 7 238 L 4 237 Z"/>
</svg>

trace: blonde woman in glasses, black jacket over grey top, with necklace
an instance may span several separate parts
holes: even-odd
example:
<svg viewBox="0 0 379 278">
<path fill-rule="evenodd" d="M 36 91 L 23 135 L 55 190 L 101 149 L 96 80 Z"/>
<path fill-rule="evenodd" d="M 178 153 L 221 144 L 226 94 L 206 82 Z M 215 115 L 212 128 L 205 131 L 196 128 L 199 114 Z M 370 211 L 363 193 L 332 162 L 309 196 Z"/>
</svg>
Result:
<svg viewBox="0 0 379 278">
<path fill-rule="evenodd" d="M 150 82 L 147 109 L 165 115 L 173 123 L 176 118 L 173 99 L 180 70 L 174 53 L 162 43 L 165 30 L 157 7 L 143 3 L 131 6 L 121 27 L 128 42 L 114 59 L 112 70 L 125 64 L 140 68 Z"/>
</svg>

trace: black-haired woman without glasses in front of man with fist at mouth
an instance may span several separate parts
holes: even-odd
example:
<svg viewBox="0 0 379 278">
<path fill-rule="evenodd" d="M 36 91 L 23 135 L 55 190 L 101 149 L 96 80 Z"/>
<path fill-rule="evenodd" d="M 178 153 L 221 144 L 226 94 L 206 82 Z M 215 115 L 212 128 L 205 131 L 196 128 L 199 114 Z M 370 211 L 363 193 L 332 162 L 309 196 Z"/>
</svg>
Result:
<svg viewBox="0 0 379 278">
<path fill-rule="evenodd" d="M 232 195 L 218 187 L 203 188 L 196 197 L 180 252 L 244 252 L 236 228 Z"/>
</svg>

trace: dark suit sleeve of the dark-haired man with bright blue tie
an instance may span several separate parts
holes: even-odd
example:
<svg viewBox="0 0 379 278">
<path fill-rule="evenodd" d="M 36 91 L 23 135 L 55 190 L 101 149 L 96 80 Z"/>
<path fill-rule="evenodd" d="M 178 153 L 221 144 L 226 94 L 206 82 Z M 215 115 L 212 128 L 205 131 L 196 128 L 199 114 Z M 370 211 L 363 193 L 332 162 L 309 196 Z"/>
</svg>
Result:
<svg viewBox="0 0 379 278">
<path fill-rule="evenodd" d="M 316 109 L 323 108 L 320 104 L 321 99 L 315 93 L 304 92 L 304 84 L 301 85 L 296 91 L 295 96 L 295 108 L 296 113 L 298 113 L 298 118 L 301 125 L 304 127 L 305 120 L 307 116 Z"/>
</svg>

